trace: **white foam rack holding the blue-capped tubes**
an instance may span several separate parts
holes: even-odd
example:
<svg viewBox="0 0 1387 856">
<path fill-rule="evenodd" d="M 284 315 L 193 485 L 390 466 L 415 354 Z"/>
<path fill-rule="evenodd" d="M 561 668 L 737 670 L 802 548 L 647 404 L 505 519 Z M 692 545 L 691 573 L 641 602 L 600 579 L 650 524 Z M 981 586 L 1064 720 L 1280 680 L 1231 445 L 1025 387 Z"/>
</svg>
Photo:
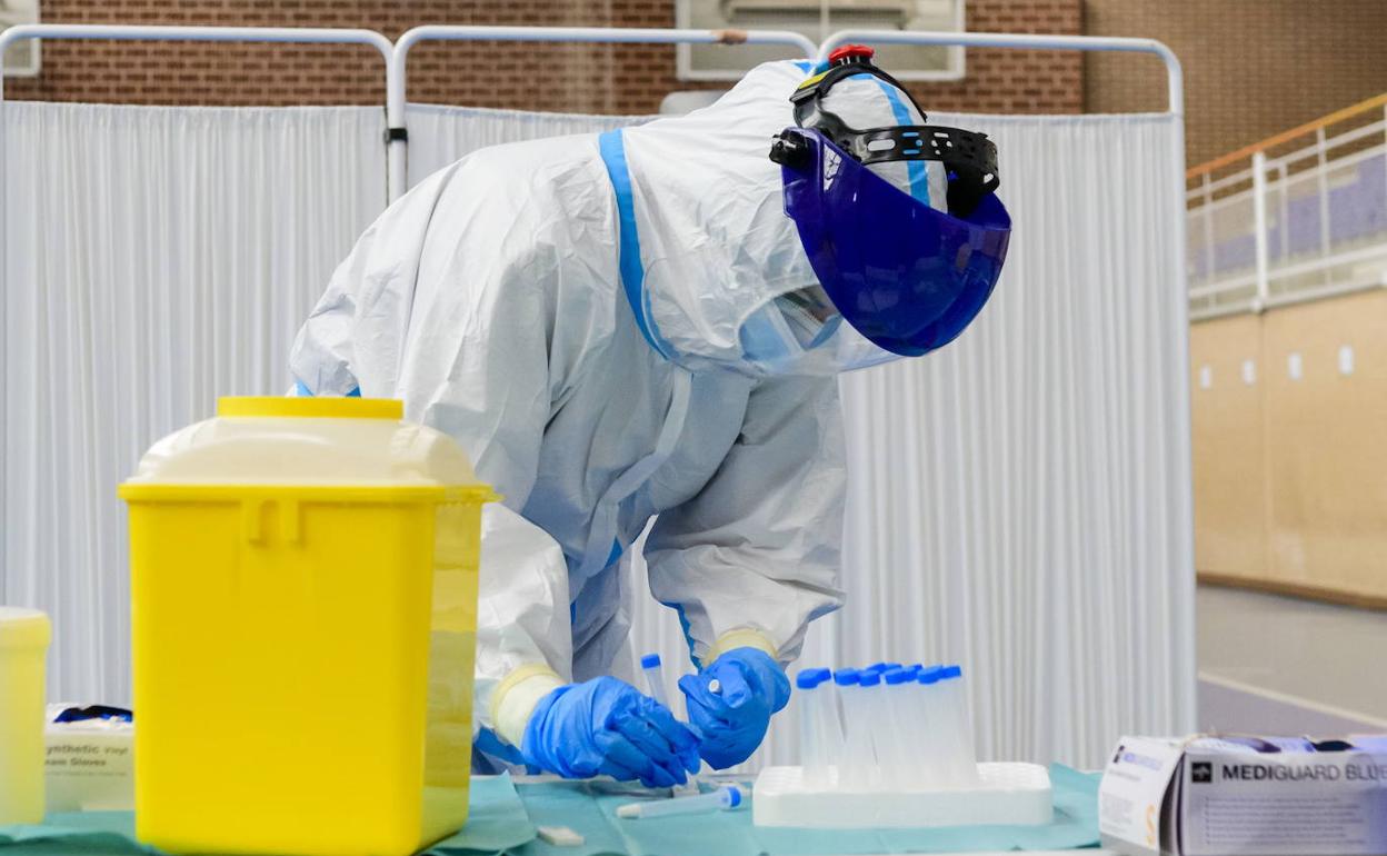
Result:
<svg viewBox="0 0 1387 856">
<path fill-rule="evenodd" d="M 1040 825 L 1053 816 L 1050 773 L 1039 764 L 978 764 L 978 784 L 947 791 L 810 789 L 803 767 L 767 767 L 752 788 L 759 827 L 820 830 Z"/>
</svg>

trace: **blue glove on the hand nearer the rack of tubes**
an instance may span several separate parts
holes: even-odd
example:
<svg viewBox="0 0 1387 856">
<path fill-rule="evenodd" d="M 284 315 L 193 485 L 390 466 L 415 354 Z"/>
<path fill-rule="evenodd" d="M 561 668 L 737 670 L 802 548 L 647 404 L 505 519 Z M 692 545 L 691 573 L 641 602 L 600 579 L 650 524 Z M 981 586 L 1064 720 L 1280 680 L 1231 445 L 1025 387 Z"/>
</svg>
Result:
<svg viewBox="0 0 1387 856">
<path fill-rule="evenodd" d="M 717 680 L 718 691 L 709 687 Z M 703 741 L 699 755 L 713 769 L 739 764 L 761 745 L 771 714 L 789 701 L 789 678 L 759 648 L 734 648 L 698 674 L 680 678 L 689 724 Z"/>
</svg>

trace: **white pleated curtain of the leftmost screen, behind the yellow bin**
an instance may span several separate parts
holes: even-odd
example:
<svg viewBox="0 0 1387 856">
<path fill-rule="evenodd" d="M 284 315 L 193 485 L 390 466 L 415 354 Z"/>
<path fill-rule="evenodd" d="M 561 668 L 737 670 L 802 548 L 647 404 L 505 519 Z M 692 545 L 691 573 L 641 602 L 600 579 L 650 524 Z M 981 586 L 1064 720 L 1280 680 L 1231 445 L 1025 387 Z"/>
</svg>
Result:
<svg viewBox="0 0 1387 856">
<path fill-rule="evenodd" d="M 384 117 L 10 103 L 3 118 L 0 602 L 51 613 L 51 698 L 122 702 L 117 484 L 216 395 L 288 387 L 298 325 L 384 208 Z"/>
</svg>

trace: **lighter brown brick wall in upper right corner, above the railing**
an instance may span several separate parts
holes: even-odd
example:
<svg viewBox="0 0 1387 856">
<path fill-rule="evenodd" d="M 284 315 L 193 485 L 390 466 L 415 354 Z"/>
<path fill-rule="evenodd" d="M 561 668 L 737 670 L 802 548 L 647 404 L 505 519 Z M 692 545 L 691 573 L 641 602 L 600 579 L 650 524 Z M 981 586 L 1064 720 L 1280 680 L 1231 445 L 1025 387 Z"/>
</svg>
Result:
<svg viewBox="0 0 1387 856">
<path fill-rule="evenodd" d="M 1387 92 L 1383 0 L 1085 0 L 1093 35 L 1150 36 L 1184 65 L 1191 165 Z M 1165 108 L 1155 58 L 1093 55 L 1087 108 Z"/>
</svg>

